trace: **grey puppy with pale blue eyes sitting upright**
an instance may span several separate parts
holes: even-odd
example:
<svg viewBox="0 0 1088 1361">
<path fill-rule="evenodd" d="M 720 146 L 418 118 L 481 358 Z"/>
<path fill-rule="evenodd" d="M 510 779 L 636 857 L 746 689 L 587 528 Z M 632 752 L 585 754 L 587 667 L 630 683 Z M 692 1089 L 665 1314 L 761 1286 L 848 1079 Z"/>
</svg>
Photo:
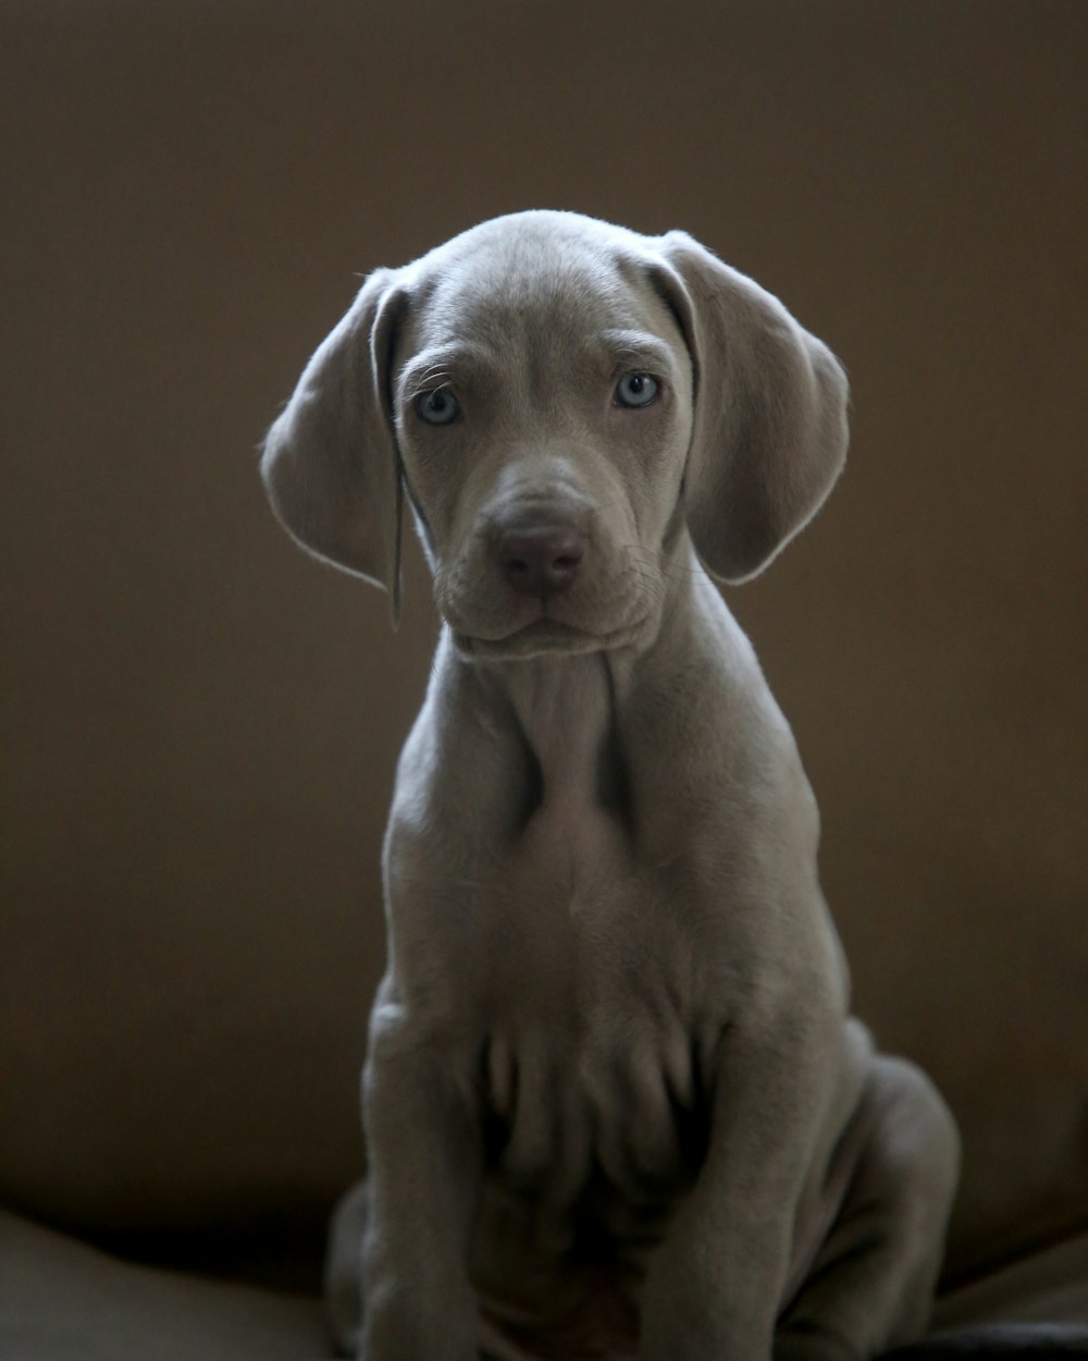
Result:
<svg viewBox="0 0 1088 1361">
<path fill-rule="evenodd" d="M 707 574 L 816 512 L 846 400 L 683 233 L 526 212 L 371 275 L 272 427 L 288 531 L 397 612 L 407 497 L 443 621 L 332 1260 L 364 1361 L 846 1361 L 925 1327 L 955 1126 L 849 1018 L 816 804 Z"/>
</svg>

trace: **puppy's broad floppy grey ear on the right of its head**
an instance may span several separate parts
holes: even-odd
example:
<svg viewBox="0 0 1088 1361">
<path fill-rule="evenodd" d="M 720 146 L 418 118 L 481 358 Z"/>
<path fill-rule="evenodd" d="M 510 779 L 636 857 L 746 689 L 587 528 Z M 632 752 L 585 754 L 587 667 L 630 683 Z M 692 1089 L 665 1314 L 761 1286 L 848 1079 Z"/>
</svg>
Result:
<svg viewBox="0 0 1088 1361">
<path fill-rule="evenodd" d="M 714 576 L 743 581 L 804 528 L 838 478 L 846 374 L 777 298 L 685 233 L 658 249 L 695 367 L 688 528 Z"/>
</svg>

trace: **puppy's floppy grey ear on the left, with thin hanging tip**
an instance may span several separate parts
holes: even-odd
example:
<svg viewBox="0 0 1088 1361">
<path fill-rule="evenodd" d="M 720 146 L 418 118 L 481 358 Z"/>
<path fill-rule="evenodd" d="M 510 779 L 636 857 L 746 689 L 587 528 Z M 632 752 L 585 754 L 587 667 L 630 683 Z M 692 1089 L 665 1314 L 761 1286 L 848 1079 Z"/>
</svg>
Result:
<svg viewBox="0 0 1088 1361">
<path fill-rule="evenodd" d="M 310 553 L 369 577 L 400 618 L 403 482 L 389 366 L 405 295 L 378 269 L 322 340 L 261 457 L 272 509 Z"/>
</svg>

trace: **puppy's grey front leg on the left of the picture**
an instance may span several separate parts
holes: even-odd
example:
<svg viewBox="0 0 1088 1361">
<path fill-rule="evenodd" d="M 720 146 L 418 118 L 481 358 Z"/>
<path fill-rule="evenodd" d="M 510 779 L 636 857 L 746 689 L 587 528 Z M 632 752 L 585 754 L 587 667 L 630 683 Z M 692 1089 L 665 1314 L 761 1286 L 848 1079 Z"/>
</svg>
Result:
<svg viewBox="0 0 1088 1361">
<path fill-rule="evenodd" d="M 476 1361 L 468 1258 L 483 1160 L 449 1055 L 378 1003 L 363 1085 L 370 1214 L 360 1361 Z"/>
</svg>

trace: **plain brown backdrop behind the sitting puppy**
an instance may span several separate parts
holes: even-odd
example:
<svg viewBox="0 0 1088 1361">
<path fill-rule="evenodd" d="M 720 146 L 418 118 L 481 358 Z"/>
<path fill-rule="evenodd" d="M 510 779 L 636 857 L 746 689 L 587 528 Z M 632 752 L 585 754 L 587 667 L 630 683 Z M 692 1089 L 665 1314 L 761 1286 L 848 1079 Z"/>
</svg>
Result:
<svg viewBox="0 0 1088 1361">
<path fill-rule="evenodd" d="M 1088 7 L 0 10 L 0 1191 L 303 1210 L 359 1160 L 377 855 L 434 614 L 254 448 L 356 274 L 533 206 L 683 226 L 842 355 L 847 475 L 730 593 L 959 1264 L 1088 1222 Z"/>
</svg>

